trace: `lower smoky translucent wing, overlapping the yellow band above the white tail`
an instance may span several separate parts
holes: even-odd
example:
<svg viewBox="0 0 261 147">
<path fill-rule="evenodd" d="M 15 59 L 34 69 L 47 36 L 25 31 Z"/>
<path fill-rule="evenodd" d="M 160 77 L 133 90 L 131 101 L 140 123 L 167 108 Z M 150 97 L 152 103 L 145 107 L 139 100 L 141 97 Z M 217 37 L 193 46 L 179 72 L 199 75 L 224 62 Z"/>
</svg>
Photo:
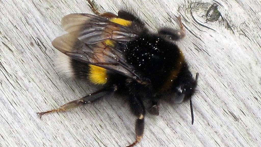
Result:
<svg viewBox="0 0 261 147">
<path fill-rule="evenodd" d="M 134 68 L 126 63 L 122 52 L 106 46 L 102 42 L 86 44 L 67 33 L 55 38 L 52 45 L 75 60 L 103 67 L 142 83 L 140 77 L 133 70 Z"/>
</svg>

